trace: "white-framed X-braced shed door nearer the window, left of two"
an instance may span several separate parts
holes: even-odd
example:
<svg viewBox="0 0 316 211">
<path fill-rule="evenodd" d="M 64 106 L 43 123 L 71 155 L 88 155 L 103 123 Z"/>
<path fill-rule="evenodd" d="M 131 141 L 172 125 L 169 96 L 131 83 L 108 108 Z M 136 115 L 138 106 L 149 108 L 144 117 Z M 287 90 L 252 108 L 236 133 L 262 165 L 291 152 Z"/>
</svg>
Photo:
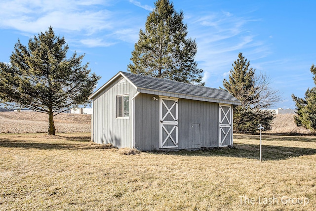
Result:
<svg viewBox="0 0 316 211">
<path fill-rule="evenodd" d="M 178 147 L 178 98 L 159 97 L 159 148 Z"/>
</svg>

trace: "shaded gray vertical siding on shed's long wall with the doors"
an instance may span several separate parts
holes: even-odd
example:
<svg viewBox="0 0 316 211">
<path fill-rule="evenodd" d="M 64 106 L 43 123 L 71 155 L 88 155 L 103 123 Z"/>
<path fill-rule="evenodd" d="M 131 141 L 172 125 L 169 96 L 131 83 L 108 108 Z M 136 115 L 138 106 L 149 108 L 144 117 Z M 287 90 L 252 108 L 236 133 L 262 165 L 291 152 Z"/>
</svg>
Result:
<svg viewBox="0 0 316 211">
<path fill-rule="evenodd" d="M 135 98 L 135 148 L 159 150 L 158 95 L 140 93 Z M 179 99 L 179 147 L 197 149 L 219 146 L 218 103 Z M 170 149 L 171 150 L 171 149 Z"/>
</svg>

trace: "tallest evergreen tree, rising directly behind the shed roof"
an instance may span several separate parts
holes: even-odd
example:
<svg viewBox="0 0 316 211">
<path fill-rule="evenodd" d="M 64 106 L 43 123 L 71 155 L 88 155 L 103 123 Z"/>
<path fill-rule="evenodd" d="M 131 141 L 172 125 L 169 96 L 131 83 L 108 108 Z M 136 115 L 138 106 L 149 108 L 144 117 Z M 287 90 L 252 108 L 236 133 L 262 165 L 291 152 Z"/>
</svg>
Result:
<svg viewBox="0 0 316 211">
<path fill-rule="evenodd" d="M 145 31 L 139 32 L 127 70 L 131 73 L 201 84 L 202 69 L 194 61 L 197 43 L 187 39 L 183 12 L 176 12 L 169 0 L 157 0 L 149 14 Z"/>
</svg>

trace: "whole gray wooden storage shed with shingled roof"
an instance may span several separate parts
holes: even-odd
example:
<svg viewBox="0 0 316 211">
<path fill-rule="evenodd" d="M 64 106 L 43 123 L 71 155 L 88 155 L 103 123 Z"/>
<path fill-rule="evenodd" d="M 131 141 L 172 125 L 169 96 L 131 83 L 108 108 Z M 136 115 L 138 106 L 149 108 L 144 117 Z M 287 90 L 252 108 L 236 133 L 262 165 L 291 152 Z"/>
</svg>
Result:
<svg viewBox="0 0 316 211">
<path fill-rule="evenodd" d="M 142 151 L 233 145 L 225 90 L 119 72 L 94 92 L 93 142 Z"/>
</svg>

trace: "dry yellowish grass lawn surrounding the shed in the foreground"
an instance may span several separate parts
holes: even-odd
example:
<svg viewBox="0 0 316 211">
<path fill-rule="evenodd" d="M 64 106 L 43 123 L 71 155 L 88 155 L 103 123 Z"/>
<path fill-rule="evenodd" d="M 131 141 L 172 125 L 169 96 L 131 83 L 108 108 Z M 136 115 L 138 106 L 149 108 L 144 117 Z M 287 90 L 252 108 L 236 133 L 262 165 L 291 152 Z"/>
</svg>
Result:
<svg viewBox="0 0 316 211">
<path fill-rule="evenodd" d="M 89 140 L 0 134 L 0 210 L 316 210 L 316 137 L 264 136 L 262 163 L 251 135 L 234 149 L 169 153 Z"/>
</svg>

